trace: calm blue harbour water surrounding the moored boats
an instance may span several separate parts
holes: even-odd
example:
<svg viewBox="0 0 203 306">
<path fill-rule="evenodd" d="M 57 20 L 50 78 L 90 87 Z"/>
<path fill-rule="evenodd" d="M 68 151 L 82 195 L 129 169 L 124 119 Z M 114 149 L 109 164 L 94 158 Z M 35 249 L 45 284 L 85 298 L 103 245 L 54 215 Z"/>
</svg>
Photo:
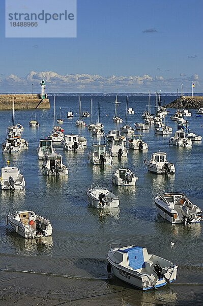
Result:
<svg viewBox="0 0 203 306">
<path fill-rule="evenodd" d="M 97 121 L 100 101 L 100 122 L 104 124 L 105 133 L 116 129 L 117 124 L 112 122 L 115 97 L 81 96 L 81 111 L 90 112 L 91 98 L 92 121 Z M 173 97 L 165 96 L 163 99 L 167 104 Z M 121 102 L 118 115 L 123 118 L 125 124 L 126 97 L 120 96 L 118 100 Z M 87 163 L 86 155 L 92 143 L 104 143 L 104 137 L 92 138 L 91 133 L 84 127 L 80 130 L 80 134 L 88 140 L 84 151 L 67 152 L 60 145 L 55 145 L 69 169 L 68 177 L 47 177 L 42 175 L 43 162 L 38 161 L 36 147 L 39 139 L 47 138 L 52 129 L 52 96 L 50 103 L 50 110 L 36 110 L 40 123 L 38 129 L 28 126 L 32 110 L 15 111 L 14 121 L 23 124 L 22 137 L 30 144 L 27 150 L 12 155 L 4 154 L 1 158 L 1 167 L 5 166 L 9 159 L 10 165 L 20 169 L 26 186 L 24 191 L 0 192 L 0 269 L 72 275 L 75 279 L 65 278 L 67 283 L 64 286 L 69 291 L 70 300 L 83 298 L 83 304 L 85 298 L 90 296 L 97 297 L 97 302 L 93 304 L 106 304 L 107 300 L 110 305 L 202 304 L 202 225 L 171 225 L 158 216 L 154 204 L 156 195 L 180 191 L 203 210 L 202 143 L 195 143 L 192 148 L 169 146 L 170 136 L 154 135 L 152 126 L 148 132 L 142 133 L 143 140 L 149 145 L 147 152 L 129 150 L 127 158 L 121 161 L 114 158 L 112 165 L 100 168 Z M 129 97 L 128 107 L 132 107 L 135 113 L 128 114 L 128 124 L 133 126 L 134 122 L 143 122 L 141 113 L 147 103 L 147 96 Z M 154 97 L 151 103 L 154 104 Z M 79 129 L 75 126 L 79 117 L 78 97 L 56 95 L 58 117 L 60 108 L 65 134 L 78 134 Z M 73 119 L 66 118 L 69 109 L 74 113 Z M 174 111 L 170 109 L 170 114 Z M 2 111 L 0 117 L 0 135 L 3 142 L 6 138 L 6 128 L 12 123 L 12 111 Z M 167 120 L 173 127 L 173 132 L 176 131 L 176 123 Z M 190 131 L 203 136 L 203 117 L 196 117 L 195 110 L 192 110 L 192 117 L 188 117 L 188 120 Z M 84 118 L 84 121 L 89 124 L 90 118 Z M 119 124 L 118 128 L 120 126 L 122 125 Z M 143 160 L 156 151 L 167 152 L 168 161 L 176 166 L 175 175 L 165 177 L 147 171 Z M 129 167 L 139 177 L 135 187 L 112 185 L 111 174 L 118 167 Z M 118 195 L 120 209 L 100 212 L 89 207 L 86 190 L 92 183 L 105 186 Z M 12 213 L 23 209 L 31 209 L 48 218 L 53 226 L 52 237 L 26 241 L 15 234 L 11 227 L 6 226 L 8 211 Z M 172 248 L 171 241 L 175 243 Z M 114 276 L 107 279 L 106 252 L 112 242 L 123 246 L 134 244 L 147 247 L 149 253 L 177 264 L 177 282 L 158 290 L 141 292 Z M 0 275 L 3 281 L 7 278 L 5 273 Z M 83 277 L 87 279 L 84 280 Z M 22 290 L 20 282 L 14 279 L 12 284 L 15 285 L 13 290 Z M 57 282 L 52 287 L 41 287 L 42 295 L 62 294 L 60 277 L 57 277 Z M 32 294 L 37 288 L 36 283 L 31 287 L 24 286 L 23 290 Z"/>
</svg>

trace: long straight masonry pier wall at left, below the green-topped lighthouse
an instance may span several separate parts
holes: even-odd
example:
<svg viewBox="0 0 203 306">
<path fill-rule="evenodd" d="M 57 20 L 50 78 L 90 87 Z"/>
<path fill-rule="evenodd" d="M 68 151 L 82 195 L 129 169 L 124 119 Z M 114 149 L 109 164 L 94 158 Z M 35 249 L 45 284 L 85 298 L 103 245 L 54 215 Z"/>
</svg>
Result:
<svg viewBox="0 0 203 306">
<path fill-rule="evenodd" d="M 0 110 L 14 109 L 49 109 L 49 99 L 42 99 L 39 94 L 0 94 Z"/>
</svg>

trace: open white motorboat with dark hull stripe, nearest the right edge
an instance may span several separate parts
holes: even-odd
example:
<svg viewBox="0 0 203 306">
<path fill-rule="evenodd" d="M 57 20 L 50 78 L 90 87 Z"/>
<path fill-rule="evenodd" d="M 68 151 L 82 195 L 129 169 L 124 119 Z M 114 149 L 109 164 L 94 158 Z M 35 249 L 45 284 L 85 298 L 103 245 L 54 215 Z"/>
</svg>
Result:
<svg viewBox="0 0 203 306">
<path fill-rule="evenodd" d="M 202 219 L 200 208 L 183 193 L 164 193 L 154 200 L 159 215 L 170 223 L 197 223 Z"/>
</svg>

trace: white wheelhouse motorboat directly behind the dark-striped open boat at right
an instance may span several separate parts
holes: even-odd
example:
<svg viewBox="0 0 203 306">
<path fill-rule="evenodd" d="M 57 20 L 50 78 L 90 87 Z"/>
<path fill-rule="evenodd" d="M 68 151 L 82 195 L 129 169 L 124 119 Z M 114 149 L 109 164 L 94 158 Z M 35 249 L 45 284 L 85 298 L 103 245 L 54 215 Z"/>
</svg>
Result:
<svg viewBox="0 0 203 306">
<path fill-rule="evenodd" d="M 148 171 L 154 173 L 167 173 L 167 174 L 174 174 L 175 173 L 175 166 L 171 163 L 168 163 L 166 160 L 166 153 L 165 152 L 157 152 L 153 153 L 150 157 L 150 160 L 145 159 L 144 164 L 146 164 Z"/>
</svg>

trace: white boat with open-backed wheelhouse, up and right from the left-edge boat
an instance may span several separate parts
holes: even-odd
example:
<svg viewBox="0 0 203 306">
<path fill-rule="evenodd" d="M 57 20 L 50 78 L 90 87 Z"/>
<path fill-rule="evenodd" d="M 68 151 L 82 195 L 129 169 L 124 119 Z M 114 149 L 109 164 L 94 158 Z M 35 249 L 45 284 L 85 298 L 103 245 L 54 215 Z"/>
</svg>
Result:
<svg viewBox="0 0 203 306">
<path fill-rule="evenodd" d="M 49 154 L 45 156 L 45 161 L 42 165 L 43 174 L 46 175 L 67 175 L 68 168 L 62 162 L 62 155 Z"/>
</svg>

